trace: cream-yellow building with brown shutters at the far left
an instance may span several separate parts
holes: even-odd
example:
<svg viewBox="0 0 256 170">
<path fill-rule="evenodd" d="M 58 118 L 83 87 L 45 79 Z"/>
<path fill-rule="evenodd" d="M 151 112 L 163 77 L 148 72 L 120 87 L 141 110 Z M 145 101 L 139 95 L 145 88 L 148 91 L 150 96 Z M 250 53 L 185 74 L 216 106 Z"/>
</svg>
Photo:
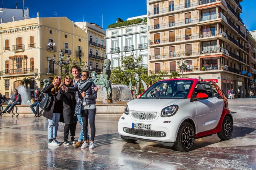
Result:
<svg viewBox="0 0 256 170">
<path fill-rule="evenodd" d="M 59 74 L 59 50 L 64 60 L 67 55 L 75 59 L 79 52 L 87 54 L 87 33 L 66 17 L 40 18 L 37 13 L 37 18 L 13 20 L 0 27 L 0 84 L 4 84 L 0 90 L 6 97 L 25 77 L 31 79 L 28 92 L 34 93 L 35 88 L 41 89 L 40 81 Z"/>
</svg>

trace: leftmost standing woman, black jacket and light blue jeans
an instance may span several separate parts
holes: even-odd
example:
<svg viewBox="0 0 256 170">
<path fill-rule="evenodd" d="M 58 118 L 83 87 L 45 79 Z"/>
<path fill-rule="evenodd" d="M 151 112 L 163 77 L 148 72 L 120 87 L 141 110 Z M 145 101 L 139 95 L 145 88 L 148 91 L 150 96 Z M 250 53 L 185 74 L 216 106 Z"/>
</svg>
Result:
<svg viewBox="0 0 256 170">
<path fill-rule="evenodd" d="M 52 84 L 48 84 L 42 92 L 49 93 L 53 96 L 52 109 L 50 111 L 44 111 L 43 116 L 48 119 L 48 146 L 59 146 L 61 145 L 57 140 L 57 132 L 59 127 L 59 118 L 62 114 L 62 102 L 57 100 L 57 95 L 61 85 L 61 77 L 57 75 L 54 77 Z"/>
</svg>

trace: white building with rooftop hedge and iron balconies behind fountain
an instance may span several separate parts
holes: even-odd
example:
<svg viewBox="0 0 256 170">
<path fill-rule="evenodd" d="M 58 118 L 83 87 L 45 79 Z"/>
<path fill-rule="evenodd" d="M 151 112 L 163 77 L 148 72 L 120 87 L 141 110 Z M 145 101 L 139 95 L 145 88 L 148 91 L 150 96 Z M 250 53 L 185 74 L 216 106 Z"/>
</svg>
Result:
<svg viewBox="0 0 256 170">
<path fill-rule="evenodd" d="M 109 28 L 106 30 L 106 54 L 111 60 L 111 67 L 121 66 L 120 56 L 129 56 L 133 54 L 135 58 L 142 55 L 141 65 L 148 66 L 147 51 L 147 26 L 143 20 L 147 15 L 128 18 L 127 21 L 141 19 L 137 24 Z"/>
</svg>

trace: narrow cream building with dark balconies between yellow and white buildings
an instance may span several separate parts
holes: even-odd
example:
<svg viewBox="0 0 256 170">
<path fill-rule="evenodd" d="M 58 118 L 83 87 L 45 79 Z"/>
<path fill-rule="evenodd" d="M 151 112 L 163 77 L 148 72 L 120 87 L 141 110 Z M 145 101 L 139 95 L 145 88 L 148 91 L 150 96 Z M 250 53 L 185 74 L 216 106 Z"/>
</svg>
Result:
<svg viewBox="0 0 256 170">
<path fill-rule="evenodd" d="M 88 56 L 89 69 L 101 74 L 103 62 L 106 59 L 106 31 L 94 23 L 75 22 L 75 24 L 87 33 L 88 54 L 86 56 Z M 82 56 L 84 55 L 82 54 Z"/>
</svg>

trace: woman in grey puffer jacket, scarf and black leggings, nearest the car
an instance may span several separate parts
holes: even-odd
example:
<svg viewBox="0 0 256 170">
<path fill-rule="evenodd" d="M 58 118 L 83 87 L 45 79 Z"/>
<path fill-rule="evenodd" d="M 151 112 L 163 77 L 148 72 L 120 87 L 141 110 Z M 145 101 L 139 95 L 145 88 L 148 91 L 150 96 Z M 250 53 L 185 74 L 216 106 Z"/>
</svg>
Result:
<svg viewBox="0 0 256 170">
<path fill-rule="evenodd" d="M 90 77 L 90 74 L 87 71 L 83 71 L 81 74 L 81 79 L 78 82 L 78 90 L 83 97 L 83 107 L 82 107 L 82 122 L 83 122 L 83 137 L 84 141 L 87 140 L 88 133 L 88 117 L 89 124 L 91 127 L 91 143 L 89 148 L 94 148 L 94 137 L 96 133 L 95 128 L 95 115 L 96 115 L 96 98 L 97 92 L 94 90 L 95 84 L 93 83 L 93 79 Z M 87 142 L 84 142 L 81 146 L 82 149 L 87 147 Z"/>
</svg>

